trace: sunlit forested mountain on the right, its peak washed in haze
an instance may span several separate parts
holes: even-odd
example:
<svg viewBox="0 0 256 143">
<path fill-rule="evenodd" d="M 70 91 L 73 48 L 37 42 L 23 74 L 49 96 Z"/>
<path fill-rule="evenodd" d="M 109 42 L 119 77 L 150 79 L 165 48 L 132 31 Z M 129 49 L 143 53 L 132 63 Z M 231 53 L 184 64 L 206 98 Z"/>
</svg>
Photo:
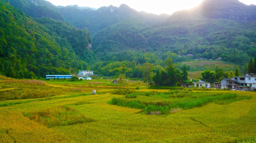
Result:
<svg viewBox="0 0 256 143">
<path fill-rule="evenodd" d="M 104 55 L 113 49 L 132 49 L 156 52 L 161 56 L 170 51 L 193 54 L 193 58 L 222 57 L 224 61 L 242 64 L 256 53 L 255 9 L 256 6 L 247 6 L 238 0 L 204 0 L 193 9 L 175 12 L 165 21 L 140 27 L 143 37 L 140 41 L 135 32 L 138 28 L 133 28 L 136 24 L 127 27 L 125 22 L 120 22 L 94 35 L 93 41 L 97 41 L 93 46 L 94 52 Z M 120 27 L 130 31 L 124 32 Z M 122 36 L 113 36 L 111 31 L 122 33 Z M 134 32 L 133 37 L 129 36 L 131 31 Z M 144 44 L 125 44 L 125 41 Z"/>
</svg>

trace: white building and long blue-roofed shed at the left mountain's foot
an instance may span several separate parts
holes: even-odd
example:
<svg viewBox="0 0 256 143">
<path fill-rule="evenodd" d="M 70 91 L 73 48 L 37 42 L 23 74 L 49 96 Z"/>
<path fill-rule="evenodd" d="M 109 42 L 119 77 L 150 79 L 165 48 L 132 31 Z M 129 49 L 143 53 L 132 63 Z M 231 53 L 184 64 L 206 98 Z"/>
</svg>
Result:
<svg viewBox="0 0 256 143">
<path fill-rule="evenodd" d="M 79 77 L 79 79 L 84 80 L 92 80 L 91 77 L 94 71 L 83 71 L 79 70 L 75 76 Z M 73 75 L 46 75 L 46 79 L 71 79 Z"/>
</svg>

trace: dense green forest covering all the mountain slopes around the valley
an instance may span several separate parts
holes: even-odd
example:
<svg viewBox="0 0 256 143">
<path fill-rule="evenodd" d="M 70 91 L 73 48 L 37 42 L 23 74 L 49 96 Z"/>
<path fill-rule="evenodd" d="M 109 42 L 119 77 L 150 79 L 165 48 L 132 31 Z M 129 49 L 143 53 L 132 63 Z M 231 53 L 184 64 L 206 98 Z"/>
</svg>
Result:
<svg viewBox="0 0 256 143">
<path fill-rule="evenodd" d="M 238 0 L 204 0 L 172 15 L 137 12 L 125 4 L 95 10 L 1 0 L 0 6 L 0 74 L 8 77 L 90 69 L 102 76 L 141 78 L 148 63 L 154 65 L 151 80 L 157 83 L 173 71 L 176 84 L 187 80 L 182 77 L 186 66 L 177 69 L 178 62 L 221 57 L 242 67 L 256 56 L 256 6 Z"/>
</svg>

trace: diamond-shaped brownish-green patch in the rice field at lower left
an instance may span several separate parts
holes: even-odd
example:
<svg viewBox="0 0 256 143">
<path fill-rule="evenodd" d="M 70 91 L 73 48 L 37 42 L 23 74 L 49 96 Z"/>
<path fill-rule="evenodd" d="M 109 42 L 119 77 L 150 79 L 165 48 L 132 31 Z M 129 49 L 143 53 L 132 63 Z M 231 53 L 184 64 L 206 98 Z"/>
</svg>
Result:
<svg viewBox="0 0 256 143">
<path fill-rule="evenodd" d="M 27 113 L 23 115 L 30 120 L 34 120 L 35 122 L 47 126 L 48 128 L 55 126 L 83 124 L 95 121 L 91 118 L 83 116 L 81 113 L 69 106 L 57 106 L 54 108 L 49 108 L 43 112 Z"/>
</svg>

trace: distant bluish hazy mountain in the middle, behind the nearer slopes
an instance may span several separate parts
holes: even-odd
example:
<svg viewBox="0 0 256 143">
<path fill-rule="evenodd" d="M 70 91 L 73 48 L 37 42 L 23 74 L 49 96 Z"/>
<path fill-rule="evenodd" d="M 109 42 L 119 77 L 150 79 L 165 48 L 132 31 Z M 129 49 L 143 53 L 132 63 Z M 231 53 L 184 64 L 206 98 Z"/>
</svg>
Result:
<svg viewBox="0 0 256 143">
<path fill-rule="evenodd" d="M 74 6 L 65 6 L 59 9 L 65 21 L 75 25 L 77 28 L 88 29 L 91 35 L 95 35 L 101 29 L 119 23 L 125 19 L 133 19 L 147 25 L 153 25 L 165 20 L 169 15 L 147 14 L 137 12 L 126 4 L 116 6 L 104 6 L 97 10 L 80 10 Z"/>
</svg>

